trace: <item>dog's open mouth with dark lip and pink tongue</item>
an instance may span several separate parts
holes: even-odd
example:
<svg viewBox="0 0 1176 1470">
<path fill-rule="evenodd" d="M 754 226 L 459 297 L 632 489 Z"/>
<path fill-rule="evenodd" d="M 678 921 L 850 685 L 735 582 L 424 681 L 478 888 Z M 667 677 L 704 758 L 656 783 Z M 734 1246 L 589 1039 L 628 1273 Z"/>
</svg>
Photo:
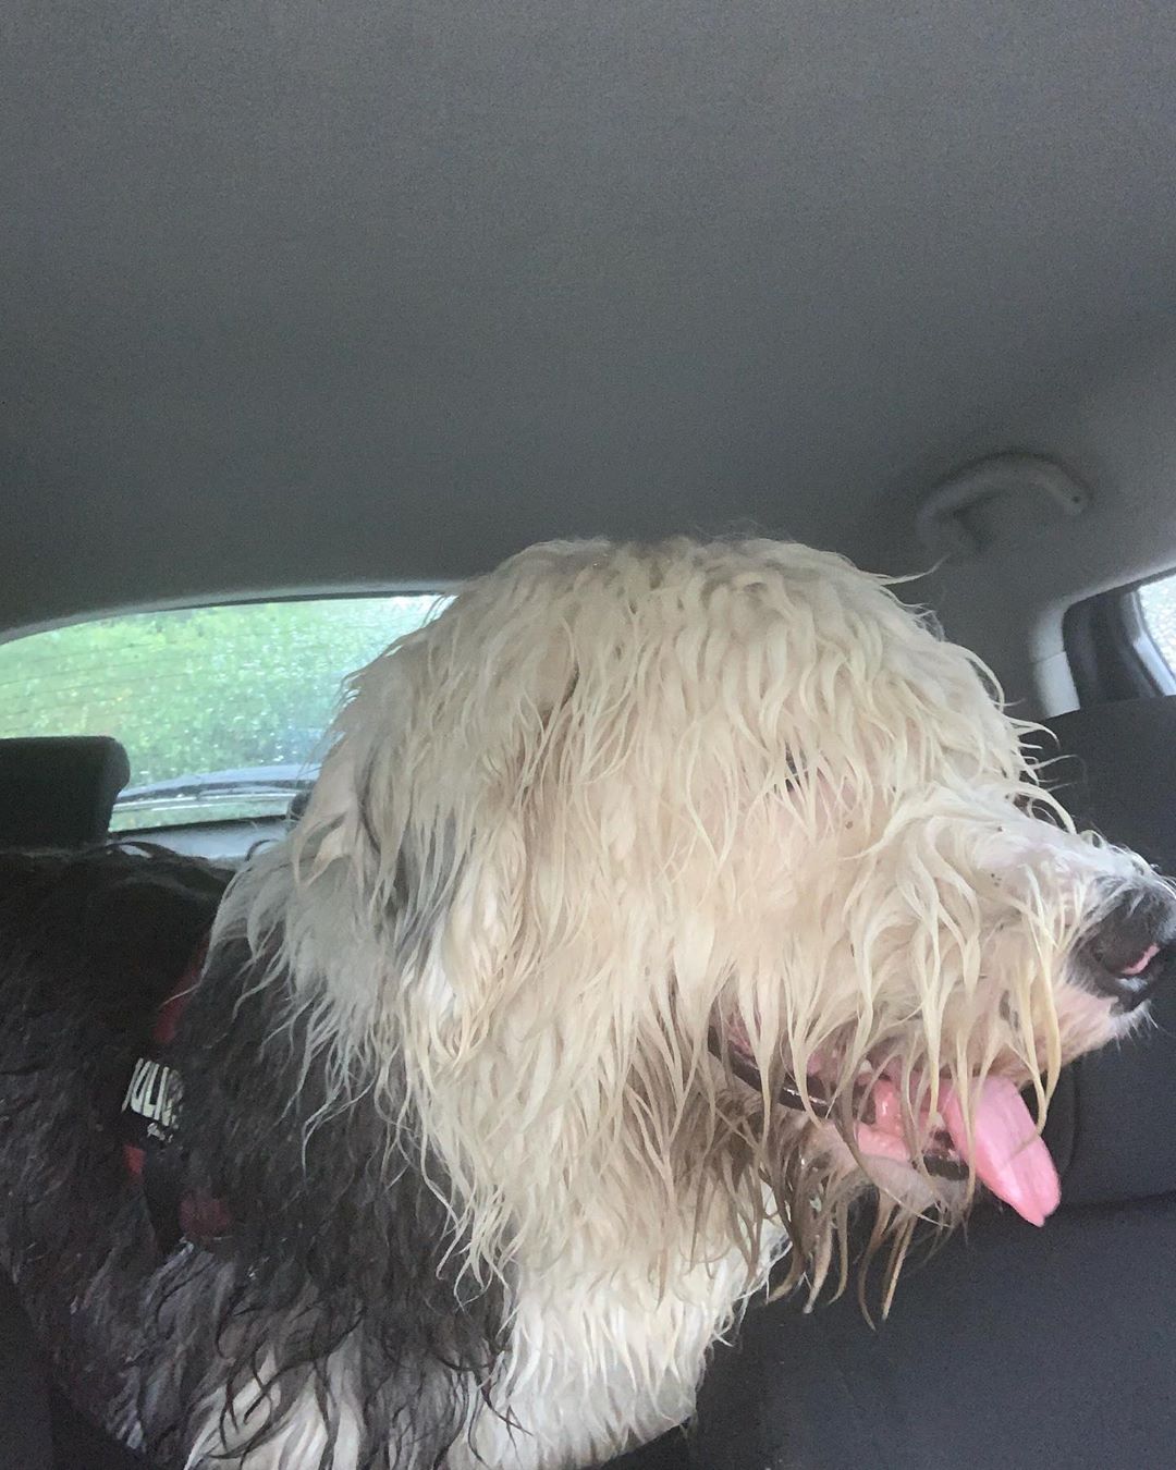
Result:
<svg viewBox="0 0 1176 1470">
<path fill-rule="evenodd" d="M 741 1082 L 763 1091 L 760 1070 L 741 1048 L 711 1050 L 725 1060 Z M 919 1094 L 919 1079 L 913 1078 Z M 816 1114 L 835 1126 L 839 1108 L 816 1075 L 806 1079 L 804 1094 L 794 1076 L 772 1088 L 781 1107 Z M 997 1198 L 1011 1205 L 1030 1225 L 1044 1225 L 1058 1205 L 1061 1186 L 1050 1151 L 1041 1139 L 1017 1085 L 1004 1076 L 988 1076 L 972 1088 L 970 1126 L 958 1091 L 944 1079 L 932 1116 L 923 1104 L 916 1126 L 904 1110 L 895 1080 L 885 1072 L 863 1072 L 854 1088 L 854 1141 L 863 1160 L 885 1160 L 950 1183 L 961 1183 L 972 1173 Z M 913 1148 L 917 1135 L 917 1150 Z M 917 1163 L 916 1163 L 917 1157 Z"/>
</svg>

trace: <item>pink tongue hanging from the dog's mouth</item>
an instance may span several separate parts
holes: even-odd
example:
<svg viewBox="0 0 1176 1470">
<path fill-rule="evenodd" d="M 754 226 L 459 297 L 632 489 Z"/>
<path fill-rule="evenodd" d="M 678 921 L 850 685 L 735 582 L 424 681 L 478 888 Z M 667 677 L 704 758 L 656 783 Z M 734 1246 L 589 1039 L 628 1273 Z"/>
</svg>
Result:
<svg viewBox="0 0 1176 1470">
<path fill-rule="evenodd" d="M 1007 1078 L 988 1078 L 972 1104 L 972 1147 L 954 1088 L 939 1094 L 939 1111 L 961 1158 L 994 1195 L 1030 1225 L 1045 1225 L 1061 1198 L 1050 1150 L 1038 1136 L 1029 1108 Z"/>
</svg>

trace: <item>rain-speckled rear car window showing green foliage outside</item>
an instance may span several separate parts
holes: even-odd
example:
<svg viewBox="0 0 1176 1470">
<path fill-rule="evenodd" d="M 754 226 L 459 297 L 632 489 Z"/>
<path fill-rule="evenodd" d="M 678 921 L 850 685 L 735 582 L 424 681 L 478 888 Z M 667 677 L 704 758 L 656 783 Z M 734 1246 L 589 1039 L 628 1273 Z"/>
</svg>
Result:
<svg viewBox="0 0 1176 1470">
<path fill-rule="evenodd" d="M 103 617 L 0 644 L 0 736 L 113 735 L 113 831 L 275 816 L 312 778 L 345 675 L 445 606 L 434 594 Z"/>
</svg>

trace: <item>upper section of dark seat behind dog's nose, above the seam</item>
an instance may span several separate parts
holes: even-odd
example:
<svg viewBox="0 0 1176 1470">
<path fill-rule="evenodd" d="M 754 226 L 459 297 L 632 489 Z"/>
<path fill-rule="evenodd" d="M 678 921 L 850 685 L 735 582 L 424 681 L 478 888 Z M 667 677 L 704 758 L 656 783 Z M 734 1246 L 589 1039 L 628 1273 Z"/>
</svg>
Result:
<svg viewBox="0 0 1176 1470">
<path fill-rule="evenodd" d="M 1058 751 L 1047 785 L 1079 828 L 1176 875 L 1176 697 L 1098 704 L 1048 720 Z M 1030 744 L 1038 744 L 1032 742 Z M 1176 995 L 1152 1025 L 1066 1069 L 1045 1139 L 1066 1204 L 1176 1191 Z"/>
</svg>

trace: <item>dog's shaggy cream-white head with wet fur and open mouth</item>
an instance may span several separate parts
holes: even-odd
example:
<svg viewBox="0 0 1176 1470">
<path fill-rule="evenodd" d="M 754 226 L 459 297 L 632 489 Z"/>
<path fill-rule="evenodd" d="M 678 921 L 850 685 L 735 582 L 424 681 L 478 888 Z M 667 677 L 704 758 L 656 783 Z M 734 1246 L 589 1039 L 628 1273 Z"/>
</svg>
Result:
<svg viewBox="0 0 1176 1470">
<path fill-rule="evenodd" d="M 903 1238 L 978 1179 L 1041 1222 L 1020 1092 L 1138 1020 L 1176 907 L 1022 734 L 838 557 L 537 547 L 356 676 L 287 958 L 491 1266 L 779 1213 L 822 1274 L 864 1191 Z"/>
</svg>

